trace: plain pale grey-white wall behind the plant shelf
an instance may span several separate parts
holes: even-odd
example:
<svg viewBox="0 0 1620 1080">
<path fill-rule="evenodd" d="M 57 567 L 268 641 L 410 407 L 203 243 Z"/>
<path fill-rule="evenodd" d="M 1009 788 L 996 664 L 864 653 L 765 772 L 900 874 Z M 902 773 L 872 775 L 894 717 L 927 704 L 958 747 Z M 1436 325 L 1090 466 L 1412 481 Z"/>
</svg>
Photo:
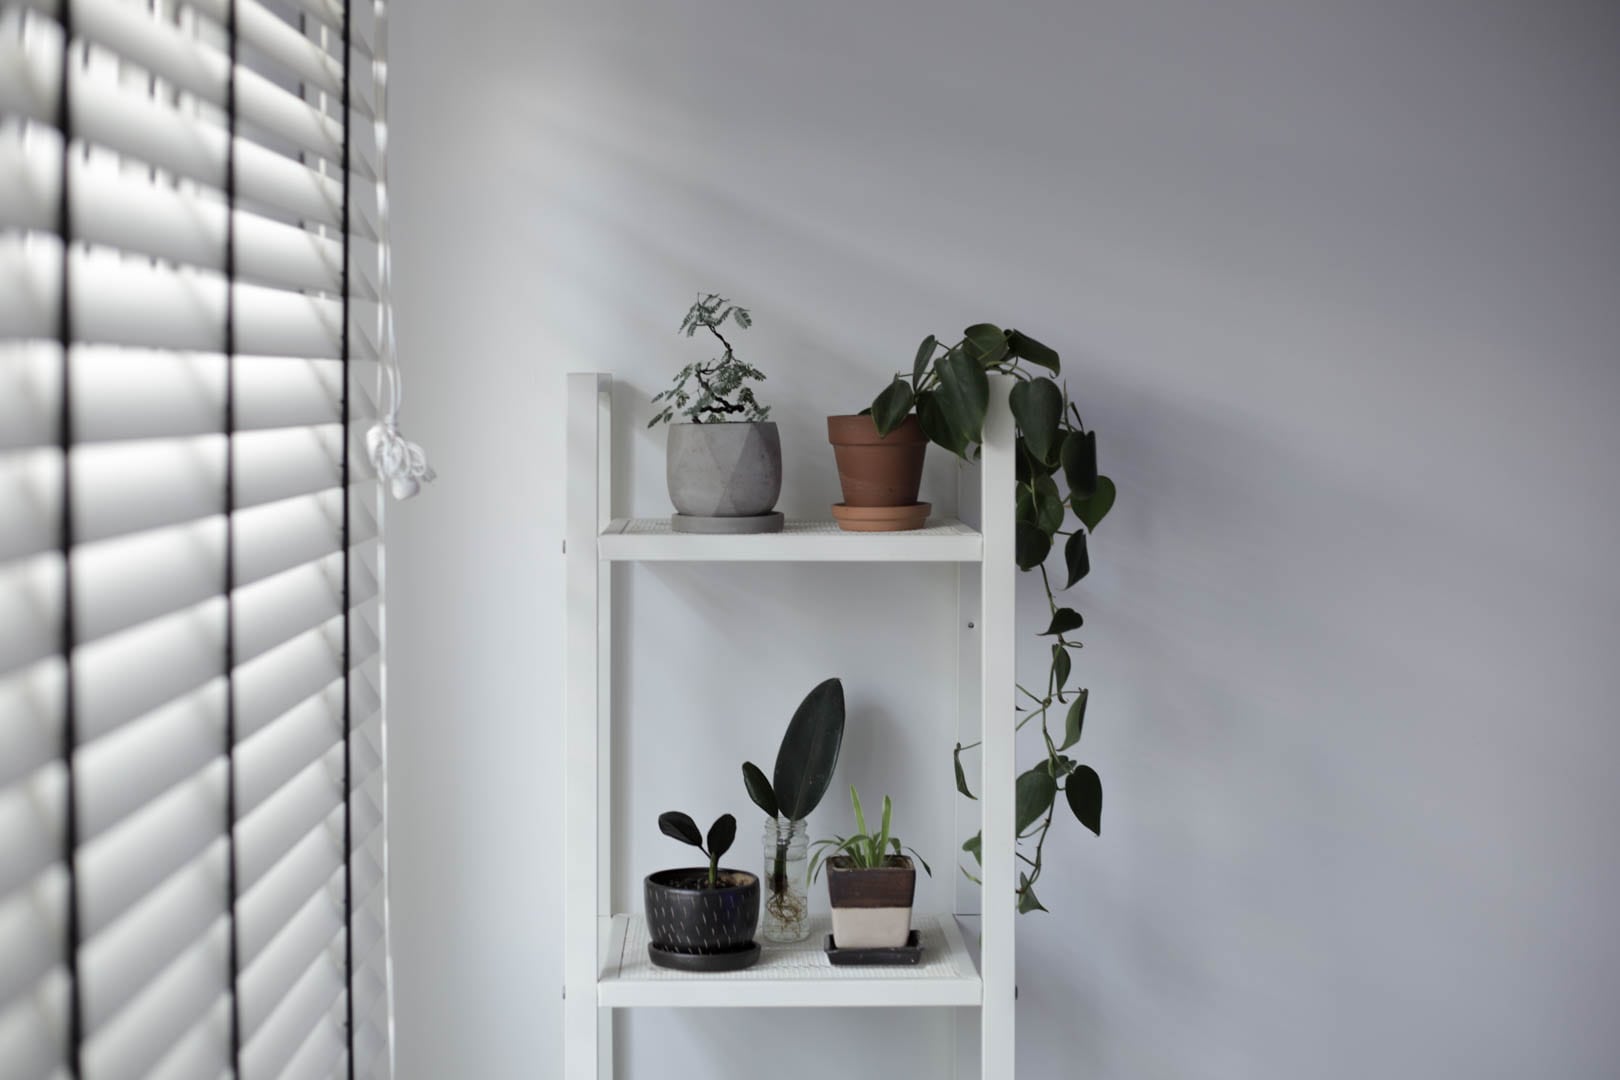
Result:
<svg viewBox="0 0 1620 1080">
<path fill-rule="evenodd" d="M 700 288 L 755 308 L 791 512 L 833 499 L 821 418 L 930 330 L 1042 337 L 1102 432 L 1105 827 L 1019 925 L 1022 1075 L 1620 1070 L 1615 5 L 483 0 L 394 37 L 442 473 L 392 517 L 402 1077 L 559 1069 L 562 376 L 645 418 Z M 617 449 L 663 512 L 661 436 Z M 735 764 L 833 670 L 846 779 L 943 805 L 943 573 L 624 575 L 620 892 L 666 806 L 757 858 Z M 933 1077 L 941 1025 L 622 1043 L 640 1078 Z"/>
</svg>

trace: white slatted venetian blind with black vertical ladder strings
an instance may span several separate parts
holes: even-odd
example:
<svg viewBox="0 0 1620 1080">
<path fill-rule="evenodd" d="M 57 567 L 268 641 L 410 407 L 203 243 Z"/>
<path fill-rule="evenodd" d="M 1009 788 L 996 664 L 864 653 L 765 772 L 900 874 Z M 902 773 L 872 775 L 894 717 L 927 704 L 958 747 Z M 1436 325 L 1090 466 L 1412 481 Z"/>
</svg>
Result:
<svg viewBox="0 0 1620 1080">
<path fill-rule="evenodd" d="M 379 84 L 0 3 L 0 1077 L 387 1077 Z"/>
</svg>

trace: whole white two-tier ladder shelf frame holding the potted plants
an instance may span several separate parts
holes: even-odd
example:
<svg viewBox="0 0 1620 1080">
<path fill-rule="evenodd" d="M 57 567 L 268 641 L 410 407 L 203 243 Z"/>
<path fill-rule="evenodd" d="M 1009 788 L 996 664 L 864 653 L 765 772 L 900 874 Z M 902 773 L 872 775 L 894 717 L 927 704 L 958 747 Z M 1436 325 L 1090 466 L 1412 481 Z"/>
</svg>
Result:
<svg viewBox="0 0 1620 1080">
<path fill-rule="evenodd" d="M 672 533 L 667 518 L 612 517 L 612 379 L 598 372 L 569 376 L 564 1080 L 612 1080 L 614 1009 L 770 1006 L 966 1007 L 977 1014 L 977 1023 L 957 1025 L 956 1075 L 1013 1080 L 1017 570 L 1014 434 L 1006 390 L 1004 377 L 991 376 L 982 460 L 957 473 L 962 521 L 933 518 L 915 533 L 842 533 L 833 521 L 789 521 L 776 534 L 693 536 Z M 980 891 L 957 874 L 954 915 L 919 912 L 917 928 L 933 946 L 925 963 L 833 968 L 820 954 L 820 933 L 802 946 L 761 942 L 760 963 L 729 975 L 667 972 L 646 962 L 642 918 L 611 910 L 609 612 L 616 562 L 957 565 L 957 738 L 983 740 L 974 784 L 980 798 L 956 800 L 957 837 L 983 831 L 985 884 Z M 980 892 L 990 897 L 982 915 Z"/>
</svg>

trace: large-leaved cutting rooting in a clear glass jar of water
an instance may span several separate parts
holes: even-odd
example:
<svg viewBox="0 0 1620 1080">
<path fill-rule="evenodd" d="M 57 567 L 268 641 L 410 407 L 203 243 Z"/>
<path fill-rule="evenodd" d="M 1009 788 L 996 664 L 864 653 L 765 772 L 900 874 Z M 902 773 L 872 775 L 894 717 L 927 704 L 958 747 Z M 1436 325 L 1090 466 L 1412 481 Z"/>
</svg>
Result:
<svg viewBox="0 0 1620 1080">
<path fill-rule="evenodd" d="M 776 750 L 773 777 L 752 761 L 742 763 L 748 798 L 765 811 L 768 895 L 765 936 L 771 941 L 804 941 L 810 936 L 810 913 L 802 874 L 791 863 L 805 858 L 805 818 L 826 795 L 844 743 L 844 683 L 818 683 L 794 709 L 782 743 Z"/>
</svg>

